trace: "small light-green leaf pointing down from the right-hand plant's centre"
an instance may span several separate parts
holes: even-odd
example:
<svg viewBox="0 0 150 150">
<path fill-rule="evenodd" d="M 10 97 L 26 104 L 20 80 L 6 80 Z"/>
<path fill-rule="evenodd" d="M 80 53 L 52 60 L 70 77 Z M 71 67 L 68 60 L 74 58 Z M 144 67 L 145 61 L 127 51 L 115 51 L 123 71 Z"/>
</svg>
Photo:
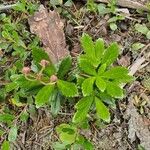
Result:
<svg viewBox="0 0 150 150">
<path fill-rule="evenodd" d="M 101 77 L 97 77 L 96 78 L 96 86 L 98 87 L 98 89 L 101 92 L 104 92 L 106 89 L 106 82 Z"/>
</svg>

